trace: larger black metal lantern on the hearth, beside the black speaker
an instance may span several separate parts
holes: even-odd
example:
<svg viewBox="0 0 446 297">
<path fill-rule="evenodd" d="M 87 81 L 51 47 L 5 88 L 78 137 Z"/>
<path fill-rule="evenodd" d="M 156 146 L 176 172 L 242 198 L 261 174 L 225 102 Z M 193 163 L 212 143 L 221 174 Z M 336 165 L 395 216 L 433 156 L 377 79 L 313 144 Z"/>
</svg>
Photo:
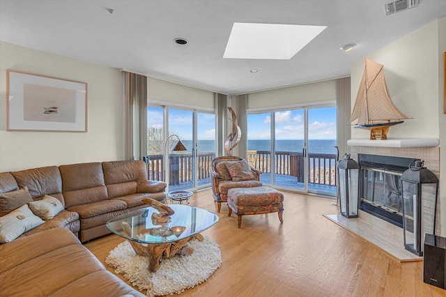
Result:
<svg viewBox="0 0 446 297">
<path fill-rule="evenodd" d="M 401 176 L 404 247 L 418 256 L 425 234 L 435 235 L 438 196 L 438 178 L 423 165 L 413 160 Z"/>
</svg>

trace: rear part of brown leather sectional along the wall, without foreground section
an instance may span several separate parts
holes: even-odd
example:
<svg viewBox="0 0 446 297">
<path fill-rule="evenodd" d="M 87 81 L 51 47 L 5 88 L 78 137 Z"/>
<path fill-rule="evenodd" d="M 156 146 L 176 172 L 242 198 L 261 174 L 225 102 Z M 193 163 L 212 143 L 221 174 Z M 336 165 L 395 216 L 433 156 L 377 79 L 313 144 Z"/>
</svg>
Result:
<svg viewBox="0 0 446 297">
<path fill-rule="evenodd" d="M 83 243 L 111 233 L 105 223 L 146 207 L 150 197 L 165 203 L 166 184 L 148 181 L 143 161 L 91 162 L 0 173 L 0 193 L 27 187 L 33 199 L 50 195 L 65 210 L 24 235 L 66 227 Z M 1 209 L 0 209 L 1 211 Z"/>
</svg>

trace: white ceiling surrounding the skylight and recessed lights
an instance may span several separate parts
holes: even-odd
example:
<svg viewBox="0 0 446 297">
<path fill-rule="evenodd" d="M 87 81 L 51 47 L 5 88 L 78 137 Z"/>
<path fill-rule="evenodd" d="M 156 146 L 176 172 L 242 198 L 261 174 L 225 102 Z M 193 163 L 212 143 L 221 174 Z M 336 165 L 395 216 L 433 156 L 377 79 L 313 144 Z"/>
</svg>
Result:
<svg viewBox="0 0 446 297">
<path fill-rule="evenodd" d="M 234 95 L 346 77 L 353 61 L 446 15 L 446 0 L 390 16 L 386 2 L 0 0 L 0 40 Z M 234 22 L 328 28 L 290 60 L 223 59 Z"/>
</svg>

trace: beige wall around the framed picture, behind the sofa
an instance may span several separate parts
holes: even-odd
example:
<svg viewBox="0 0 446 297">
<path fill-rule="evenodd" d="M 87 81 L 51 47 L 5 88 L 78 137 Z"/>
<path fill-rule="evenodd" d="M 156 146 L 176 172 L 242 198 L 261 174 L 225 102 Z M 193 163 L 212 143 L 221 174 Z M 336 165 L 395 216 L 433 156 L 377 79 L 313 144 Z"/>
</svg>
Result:
<svg viewBox="0 0 446 297">
<path fill-rule="evenodd" d="M 6 131 L 6 69 L 88 84 L 88 132 Z M 0 43 L 0 172 L 123 160 L 122 73 L 114 68 Z"/>
</svg>

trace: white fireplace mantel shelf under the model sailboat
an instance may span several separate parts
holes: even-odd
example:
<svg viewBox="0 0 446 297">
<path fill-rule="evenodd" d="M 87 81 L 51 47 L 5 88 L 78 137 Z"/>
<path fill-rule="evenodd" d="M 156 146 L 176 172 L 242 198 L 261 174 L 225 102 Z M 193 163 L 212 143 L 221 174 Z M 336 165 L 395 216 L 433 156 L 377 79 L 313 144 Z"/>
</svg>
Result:
<svg viewBox="0 0 446 297">
<path fill-rule="evenodd" d="M 417 148 L 438 146 L 436 138 L 390 138 L 387 140 L 371 140 L 365 138 L 349 139 L 349 146 L 379 146 L 387 148 Z"/>
</svg>

